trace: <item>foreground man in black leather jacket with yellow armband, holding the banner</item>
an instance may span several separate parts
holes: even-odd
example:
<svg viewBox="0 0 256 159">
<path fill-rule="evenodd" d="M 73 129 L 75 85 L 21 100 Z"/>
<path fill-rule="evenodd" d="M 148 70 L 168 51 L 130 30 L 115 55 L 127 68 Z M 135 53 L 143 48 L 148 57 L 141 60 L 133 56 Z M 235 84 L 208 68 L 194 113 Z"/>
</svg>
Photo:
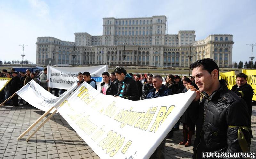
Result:
<svg viewBox="0 0 256 159">
<path fill-rule="evenodd" d="M 250 134 L 248 108 L 243 99 L 230 91 L 225 80 L 219 81 L 219 68 L 212 59 L 198 60 L 190 65 L 199 90 L 193 102 L 198 119 L 193 158 L 202 158 L 203 152 L 249 152 Z M 238 133 L 239 132 L 239 133 Z M 240 156 L 241 158 L 241 156 Z"/>
</svg>

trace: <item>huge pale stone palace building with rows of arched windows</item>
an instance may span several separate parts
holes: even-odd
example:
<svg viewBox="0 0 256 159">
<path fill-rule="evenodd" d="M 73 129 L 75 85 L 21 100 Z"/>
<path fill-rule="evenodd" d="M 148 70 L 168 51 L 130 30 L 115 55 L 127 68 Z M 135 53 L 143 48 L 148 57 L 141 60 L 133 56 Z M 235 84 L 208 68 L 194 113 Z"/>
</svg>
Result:
<svg viewBox="0 0 256 159">
<path fill-rule="evenodd" d="M 166 34 L 166 16 L 103 18 L 102 35 L 74 33 L 75 42 L 38 37 L 36 64 L 48 58 L 66 65 L 188 67 L 203 58 L 220 68 L 232 66 L 233 35 L 212 34 L 195 41 L 194 30 Z"/>
</svg>

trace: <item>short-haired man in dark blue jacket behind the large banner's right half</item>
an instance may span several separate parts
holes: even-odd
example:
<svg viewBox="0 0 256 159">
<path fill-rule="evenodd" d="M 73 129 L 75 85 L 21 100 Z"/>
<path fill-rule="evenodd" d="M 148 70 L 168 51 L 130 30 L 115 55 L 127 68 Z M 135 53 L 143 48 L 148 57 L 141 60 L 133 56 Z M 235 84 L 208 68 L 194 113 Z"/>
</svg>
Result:
<svg viewBox="0 0 256 159">
<path fill-rule="evenodd" d="M 163 84 L 163 78 L 160 75 L 156 75 L 153 77 L 153 86 L 146 97 L 146 99 L 157 98 L 168 96 L 172 94 L 172 91 L 165 87 Z M 160 145 L 156 148 L 156 151 L 151 155 L 149 159 L 165 159 L 166 147 L 165 147 L 164 139 Z"/>
</svg>

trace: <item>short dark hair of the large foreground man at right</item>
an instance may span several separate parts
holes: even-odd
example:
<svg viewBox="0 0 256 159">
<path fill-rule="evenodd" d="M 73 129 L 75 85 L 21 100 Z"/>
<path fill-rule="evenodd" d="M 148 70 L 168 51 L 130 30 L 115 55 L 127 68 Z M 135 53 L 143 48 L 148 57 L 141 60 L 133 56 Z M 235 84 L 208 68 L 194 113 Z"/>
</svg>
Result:
<svg viewBox="0 0 256 159">
<path fill-rule="evenodd" d="M 191 70 L 193 70 L 196 67 L 202 67 L 202 69 L 208 71 L 210 74 L 213 70 L 217 69 L 218 70 L 218 79 L 219 79 L 219 76 L 220 76 L 219 67 L 213 59 L 204 58 L 202 60 L 198 60 L 198 61 L 190 64 Z"/>
</svg>

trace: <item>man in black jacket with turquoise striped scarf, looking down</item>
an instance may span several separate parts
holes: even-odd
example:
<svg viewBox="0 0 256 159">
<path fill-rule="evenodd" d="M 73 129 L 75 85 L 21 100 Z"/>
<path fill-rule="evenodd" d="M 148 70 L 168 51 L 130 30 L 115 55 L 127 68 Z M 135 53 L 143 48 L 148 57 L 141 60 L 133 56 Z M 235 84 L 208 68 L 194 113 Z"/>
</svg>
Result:
<svg viewBox="0 0 256 159">
<path fill-rule="evenodd" d="M 119 80 L 118 91 L 115 97 L 121 97 L 129 100 L 140 100 L 137 82 L 132 76 L 127 74 L 126 70 L 117 66 L 114 70 L 116 78 Z"/>
</svg>

